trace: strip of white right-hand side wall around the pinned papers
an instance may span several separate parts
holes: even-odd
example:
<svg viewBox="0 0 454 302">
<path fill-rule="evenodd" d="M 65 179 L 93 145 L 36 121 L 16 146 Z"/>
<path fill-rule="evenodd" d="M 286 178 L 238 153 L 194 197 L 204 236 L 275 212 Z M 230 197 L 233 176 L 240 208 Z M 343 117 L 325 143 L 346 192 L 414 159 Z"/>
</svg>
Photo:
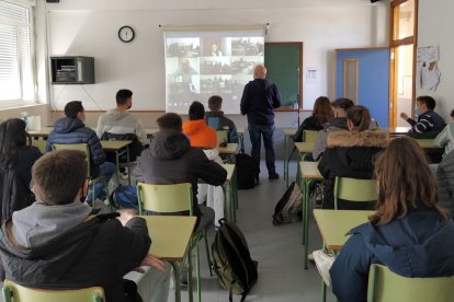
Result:
<svg viewBox="0 0 454 302">
<path fill-rule="evenodd" d="M 446 121 L 454 108 L 454 39 L 452 12 L 454 2 L 446 0 L 419 0 L 418 46 L 440 46 L 440 84 L 435 91 L 417 88 L 417 95 L 432 95 L 438 101 L 435 111 Z"/>
</svg>

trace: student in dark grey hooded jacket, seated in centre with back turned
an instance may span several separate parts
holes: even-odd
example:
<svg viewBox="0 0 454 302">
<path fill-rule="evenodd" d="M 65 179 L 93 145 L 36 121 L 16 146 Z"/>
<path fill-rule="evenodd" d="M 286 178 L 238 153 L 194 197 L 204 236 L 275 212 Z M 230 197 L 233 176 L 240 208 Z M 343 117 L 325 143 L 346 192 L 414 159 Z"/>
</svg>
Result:
<svg viewBox="0 0 454 302">
<path fill-rule="evenodd" d="M 220 186 L 227 172 L 216 162 L 208 160 L 201 148 L 192 148 L 182 133 L 182 120 L 178 114 L 168 113 L 157 119 L 159 132 L 150 148 L 144 150 L 136 169 L 138 182 L 148 184 L 191 183 L 193 190 L 193 213 L 198 217 L 200 228 L 214 219 L 211 208 L 197 202 L 197 179 Z M 213 129 L 212 129 L 213 130 Z"/>
</svg>

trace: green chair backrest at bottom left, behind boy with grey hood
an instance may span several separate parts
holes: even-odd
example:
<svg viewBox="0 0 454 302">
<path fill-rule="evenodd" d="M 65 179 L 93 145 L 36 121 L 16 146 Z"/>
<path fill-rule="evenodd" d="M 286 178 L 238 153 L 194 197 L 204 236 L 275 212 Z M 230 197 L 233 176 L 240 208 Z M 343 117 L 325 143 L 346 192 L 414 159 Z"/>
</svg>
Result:
<svg viewBox="0 0 454 302">
<path fill-rule="evenodd" d="M 4 302 L 102 302 L 105 301 L 104 290 L 100 287 L 75 290 L 43 290 L 25 288 L 10 280 L 3 283 Z"/>
</svg>

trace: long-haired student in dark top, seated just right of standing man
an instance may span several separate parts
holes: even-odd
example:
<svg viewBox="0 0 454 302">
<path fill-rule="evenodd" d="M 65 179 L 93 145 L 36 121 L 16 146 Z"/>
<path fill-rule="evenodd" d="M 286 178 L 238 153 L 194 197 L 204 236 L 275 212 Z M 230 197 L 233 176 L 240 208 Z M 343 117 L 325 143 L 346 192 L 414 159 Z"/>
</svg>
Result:
<svg viewBox="0 0 454 302">
<path fill-rule="evenodd" d="M 304 130 L 321 130 L 328 127 L 329 120 L 331 120 L 333 117 L 334 115 L 329 98 L 326 96 L 317 97 L 316 102 L 314 103 L 313 115 L 303 120 L 302 125 L 293 137 L 293 141 L 303 141 Z"/>
</svg>

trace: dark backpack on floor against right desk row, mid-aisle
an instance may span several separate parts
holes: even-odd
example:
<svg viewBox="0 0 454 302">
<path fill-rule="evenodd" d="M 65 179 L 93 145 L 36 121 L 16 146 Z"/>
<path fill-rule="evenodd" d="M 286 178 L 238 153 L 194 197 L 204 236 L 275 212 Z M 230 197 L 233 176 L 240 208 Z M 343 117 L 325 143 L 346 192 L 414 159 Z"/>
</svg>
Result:
<svg viewBox="0 0 454 302">
<path fill-rule="evenodd" d="M 299 187 L 293 182 L 285 190 L 274 208 L 273 224 L 280 225 L 302 219 L 303 195 Z"/>
</svg>

